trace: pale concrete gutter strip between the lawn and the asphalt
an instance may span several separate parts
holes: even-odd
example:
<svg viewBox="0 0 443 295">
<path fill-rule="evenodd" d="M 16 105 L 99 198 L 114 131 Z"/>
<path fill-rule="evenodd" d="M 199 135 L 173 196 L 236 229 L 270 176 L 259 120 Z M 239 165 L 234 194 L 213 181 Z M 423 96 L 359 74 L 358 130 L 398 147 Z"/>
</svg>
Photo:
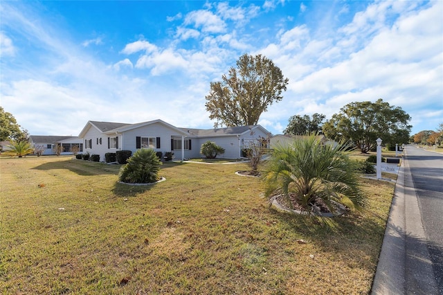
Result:
<svg viewBox="0 0 443 295">
<path fill-rule="evenodd" d="M 406 157 L 398 173 L 372 294 L 438 294 Z"/>
</svg>

